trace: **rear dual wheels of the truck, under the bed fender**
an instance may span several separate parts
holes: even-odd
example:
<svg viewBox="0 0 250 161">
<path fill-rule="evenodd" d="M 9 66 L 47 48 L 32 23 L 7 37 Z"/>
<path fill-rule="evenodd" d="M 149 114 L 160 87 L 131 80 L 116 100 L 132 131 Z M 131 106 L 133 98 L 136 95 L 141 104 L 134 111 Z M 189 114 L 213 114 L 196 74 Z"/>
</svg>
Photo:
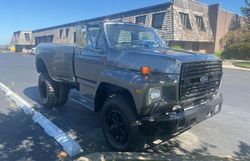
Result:
<svg viewBox="0 0 250 161">
<path fill-rule="evenodd" d="M 61 106 L 68 100 L 68 85 L 54 81 L 47 73 L 40 74 L 38 88 L 45 107 Z"/>
</svg>

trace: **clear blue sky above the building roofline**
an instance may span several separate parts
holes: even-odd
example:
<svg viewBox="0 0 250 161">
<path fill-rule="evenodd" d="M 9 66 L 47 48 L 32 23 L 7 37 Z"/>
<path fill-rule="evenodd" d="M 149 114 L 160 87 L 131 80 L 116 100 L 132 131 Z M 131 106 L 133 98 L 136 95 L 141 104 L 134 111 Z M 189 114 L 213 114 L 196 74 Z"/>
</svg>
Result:
<svg viewBox="0 0 250 161">
<path fill-rule="evenodd" d="M 1 0 L 0 44 L 9 44 L 17 30 L 34 30 L 111 13 L 127 11 L 170 0 Z M 221 3 L 229 11 L 240 14 L 244 0 L 200 0 Z"/>
</svg>

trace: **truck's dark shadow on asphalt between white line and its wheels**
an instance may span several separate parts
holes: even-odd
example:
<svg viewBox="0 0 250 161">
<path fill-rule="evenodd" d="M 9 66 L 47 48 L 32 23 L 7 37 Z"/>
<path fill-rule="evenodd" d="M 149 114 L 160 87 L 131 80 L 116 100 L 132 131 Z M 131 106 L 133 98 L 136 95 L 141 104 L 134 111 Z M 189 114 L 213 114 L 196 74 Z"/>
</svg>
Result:
<svg viewBox="0 0 250 161">
<path fill-rule="evenodd" d="M 40 104 L 37 86 L 26 88 L 23 93 Z M 38 106 L 35 110 L 77 141 L 84 149 L 84 154 L 110 151 L 102 134 L 100 113 L 92 112 L 70 98 L 64 106 L 57 108 Z"/>
</svg>

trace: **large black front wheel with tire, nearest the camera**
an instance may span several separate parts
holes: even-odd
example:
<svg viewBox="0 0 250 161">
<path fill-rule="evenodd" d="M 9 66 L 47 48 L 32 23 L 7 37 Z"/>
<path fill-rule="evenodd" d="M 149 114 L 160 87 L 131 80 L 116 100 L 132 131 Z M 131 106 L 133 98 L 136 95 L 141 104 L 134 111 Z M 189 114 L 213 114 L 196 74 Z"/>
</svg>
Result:
<svg viewBox="0 0 250 161">
<path fill-rule="evenodd" d="M 108 98 L 103 105 L 103 133 L 115 151 L 138 151 L 145 144 L 139 127 L 131 126 L 136 121 L 131 107 L 131 102 L 120 95 Z"/>
</svg>

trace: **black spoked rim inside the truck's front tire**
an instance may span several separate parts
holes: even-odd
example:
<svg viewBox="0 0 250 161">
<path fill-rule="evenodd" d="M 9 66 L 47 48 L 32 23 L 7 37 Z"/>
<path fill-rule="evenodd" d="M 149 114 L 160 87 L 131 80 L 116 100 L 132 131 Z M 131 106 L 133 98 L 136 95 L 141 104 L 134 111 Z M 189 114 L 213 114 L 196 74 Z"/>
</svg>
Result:
<svg viewBox="0 0 250 161">
<path fill-rule="evenodd" d="M 128 143 L 129 128 L 121 112 L 116 110 L 109 111 L 105 123 L 108 137 L 110 137 L 115 144 L 125 146 Z"/>
</svg>

